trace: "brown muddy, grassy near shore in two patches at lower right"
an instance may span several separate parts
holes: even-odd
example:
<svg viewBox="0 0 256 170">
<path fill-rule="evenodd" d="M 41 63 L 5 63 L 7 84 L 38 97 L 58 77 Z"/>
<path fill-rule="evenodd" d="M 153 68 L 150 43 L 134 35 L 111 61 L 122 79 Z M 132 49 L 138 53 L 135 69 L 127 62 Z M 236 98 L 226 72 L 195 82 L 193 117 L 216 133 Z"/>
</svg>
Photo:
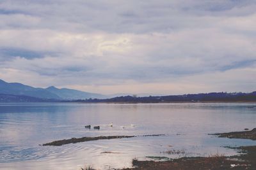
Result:
<svg viewBox="0 0 256 170">
<path fill-rule="evenodd" d="M 256 128 L 251 131 L 216 133 L 219 138 L 256 139 Z M 230 147 L 232 148 L 232 147 Z M 157 170 L 157 169 L 256 169 L 256 146 L 239 146 L 232 148 L 238 155 L 211 155 L 209 157 L 181 157 L 163 161 L 132 160 L 132 168 L 123 170 Z"/>
</svg>

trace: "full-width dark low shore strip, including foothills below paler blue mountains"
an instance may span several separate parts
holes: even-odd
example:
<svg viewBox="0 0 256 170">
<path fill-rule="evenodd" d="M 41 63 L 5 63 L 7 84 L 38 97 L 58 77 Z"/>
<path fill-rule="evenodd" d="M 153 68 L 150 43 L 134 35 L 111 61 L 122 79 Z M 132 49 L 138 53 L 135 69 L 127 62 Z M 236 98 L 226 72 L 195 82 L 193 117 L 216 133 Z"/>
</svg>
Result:
<svg viewBox="0 0 256 170">
<path fill-rule="evenodd" d="M 38 97 L 17 96 L 0 94 L 0 103 L 42 103 L 42 102 L 63 102 L 63 103 L 172 103 L 172 102 L 256 102 L 256 92 L 252 93 L 227 93 L 212 92 L 207 94 L 184 94 L 174 96 L 120 96 L 110 99 L 84 99 L 84 100 L 57 100 L 41 99 Z"/>
</svg>

